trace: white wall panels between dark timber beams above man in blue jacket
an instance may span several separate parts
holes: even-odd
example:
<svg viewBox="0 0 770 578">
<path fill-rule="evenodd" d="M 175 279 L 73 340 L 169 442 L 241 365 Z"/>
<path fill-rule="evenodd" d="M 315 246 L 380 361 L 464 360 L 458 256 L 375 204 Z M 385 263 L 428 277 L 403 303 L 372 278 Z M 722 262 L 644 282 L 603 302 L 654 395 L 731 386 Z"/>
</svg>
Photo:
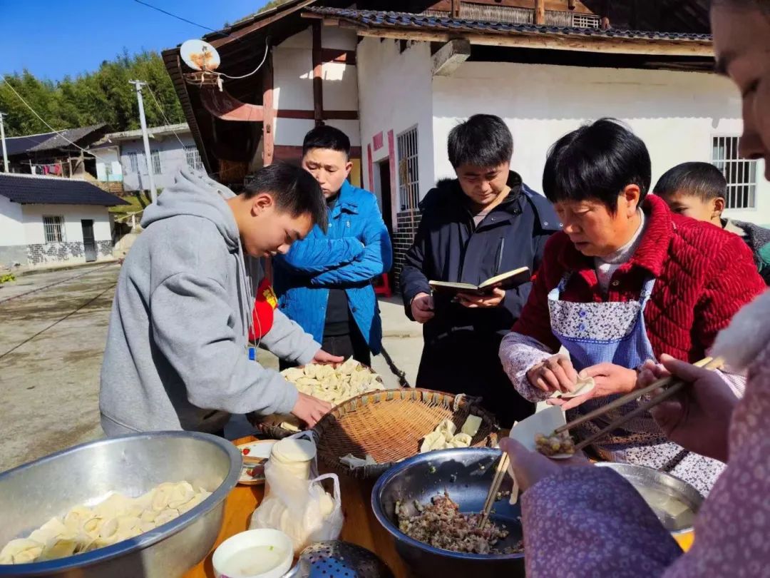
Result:
<svg viewBox="0 0 770 578">
<path fill-rule="evenodd" d="M 355 51 L 356 33 L 324 27 L 321 45 L 324 49 Z M 313 35 L 310 28 L 286 39 L 273 49 L 273 104 L 276 109 L 313 111 Z M 322 68 L 323 108 L 326 110 L 358 110 L 357 66 L 326 62 Z M 360 146 L 357 120 L 327 120 L 326 124 L 343 131 L 351 146 Z M 305 135 L 316 126 L 312 119 L 277 118 L 276 146 L 302 146 Z"/>
</svg>

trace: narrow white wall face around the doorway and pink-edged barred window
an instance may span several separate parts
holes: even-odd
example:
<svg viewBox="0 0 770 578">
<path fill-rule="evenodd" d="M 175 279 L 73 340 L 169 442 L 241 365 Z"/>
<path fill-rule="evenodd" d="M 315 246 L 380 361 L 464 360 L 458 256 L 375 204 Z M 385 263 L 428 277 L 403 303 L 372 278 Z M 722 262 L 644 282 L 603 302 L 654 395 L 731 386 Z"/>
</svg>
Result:
<svg viewBox="0 0 770 578">
<path fill-rule="evenodd" d="M 370 166 L 367 156 L 371 150 L 372 163 L 389 158 L 391 162 L 391 220 L 397 223 L 397 150 L 390 146 L 398 135 L 417 127 L 420 153 L 418 173 L 420 195 L 424 196 L 434 180 L 433 99 L 431 98 L 430 44 L 414 42 L 401 52 L 400 42 L 365 38 L 358 45 L 359 101 L 361 143 L 364 158 L 364 185 L 372 185 L 380 203 L 379 172 Z M 380 205 L 381 206 L 381 205 Z M 397 227 L 396 227 L 397 228 Z"/>
</svg>

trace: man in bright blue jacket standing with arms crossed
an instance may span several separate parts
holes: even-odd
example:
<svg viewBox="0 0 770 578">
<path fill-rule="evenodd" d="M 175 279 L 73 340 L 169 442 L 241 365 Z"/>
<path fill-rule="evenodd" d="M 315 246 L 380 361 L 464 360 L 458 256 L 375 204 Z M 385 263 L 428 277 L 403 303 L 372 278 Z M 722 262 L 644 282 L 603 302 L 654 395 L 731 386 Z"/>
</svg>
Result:
<svg viewBox="0 0 770 578">
<path fill-rule="evenodd" d="M 382 323 L 372 279 L 393 264 L 390 237 L 377 198 L 347 177 L 350 139 L 318 126 L 303 143 L 302 166 L 320 184 L 329 210 L 326 234 L 313 228 L 275 259 L 280 309 L 332 355 L 371 364 L 380 353 Z M 284 363 L 283 367 L 288 364 Z"/>
</svg>

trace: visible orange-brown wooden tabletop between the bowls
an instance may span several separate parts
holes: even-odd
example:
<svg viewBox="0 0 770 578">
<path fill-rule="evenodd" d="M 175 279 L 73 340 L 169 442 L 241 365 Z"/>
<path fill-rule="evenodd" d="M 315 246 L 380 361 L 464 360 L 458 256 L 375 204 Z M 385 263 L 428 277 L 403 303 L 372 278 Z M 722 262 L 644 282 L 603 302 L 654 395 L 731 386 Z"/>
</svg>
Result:
<svg viewBox="0 0 770 578">
<path fill-rule="evenodd" d="M 243 444 L 253 442 L 255 439 L 248 437 L 238 439 L 233 443 Z M 404 566 L 396 552 L 393 538 L 374 517 L 370 506 L 373 486 L 374 482 L 371 480 L 357 480 L 350 476 L 340 476 L 342 509 L 345 516 L 340 539 L 358 544 L 376 553 L 390 566 L 390 570 L 393 571 L 396 578 L 411 578 L 412 574 Z M 249 519 L 251 519 L 256 506 L 262 502 L 264 495 L 264 486 L 236 486 L 230 492 L 225 502 L 222 529 L 219 530 L 219 536 L 217 536 L 211 553 L 206 556 L 206 560 L 186 573 L 184 578 L 214 578 L 214 569 L 211 564 L 214 549 L 230 536 L 249 528 Z"/>
</svg>

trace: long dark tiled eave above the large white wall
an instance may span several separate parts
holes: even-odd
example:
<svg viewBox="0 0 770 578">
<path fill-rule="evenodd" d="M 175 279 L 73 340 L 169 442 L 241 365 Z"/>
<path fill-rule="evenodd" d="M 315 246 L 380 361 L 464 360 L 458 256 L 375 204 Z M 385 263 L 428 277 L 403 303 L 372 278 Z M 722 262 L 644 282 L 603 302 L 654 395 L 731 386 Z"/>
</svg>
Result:
<svg viewBox="0 0 770 578">
<path fill-rule="evenodd" d="M 349 8 L 307 8 L 307 12 L 341 18 L 349 22 L 373 28 L 394 28 L 426 30 L 430 32 L 495 32 L 523 34 L 544 34 L 563 36 L 601 37 L 638 40 L 665 40 L 675 42 L 711 42 L 708 34 L 684 34 L 680 32 L 647 32 L 641 30 L 557 28 L 534 24 L 510 24 L 507 22 L 486 22 L 463 18 L 444 18 L 436 15 L 410 14 L 408 12 L 377 12 Z"/>
</svg>

